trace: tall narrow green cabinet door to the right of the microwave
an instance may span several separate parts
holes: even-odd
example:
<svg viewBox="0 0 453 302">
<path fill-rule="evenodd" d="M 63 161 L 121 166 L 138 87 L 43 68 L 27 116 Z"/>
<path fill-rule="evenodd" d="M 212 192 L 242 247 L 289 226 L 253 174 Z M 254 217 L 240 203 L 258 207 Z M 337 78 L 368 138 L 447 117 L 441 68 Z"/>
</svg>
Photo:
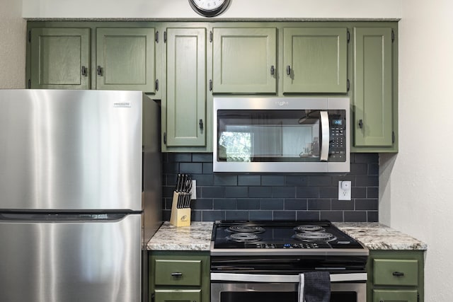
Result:
<svg viewBox="0 0 453 302">
<path fill-rule="evenodd" d="M 391 147 L 393 139 L 391 28 L 354 28 L 355 147 Z"/>
</svg>

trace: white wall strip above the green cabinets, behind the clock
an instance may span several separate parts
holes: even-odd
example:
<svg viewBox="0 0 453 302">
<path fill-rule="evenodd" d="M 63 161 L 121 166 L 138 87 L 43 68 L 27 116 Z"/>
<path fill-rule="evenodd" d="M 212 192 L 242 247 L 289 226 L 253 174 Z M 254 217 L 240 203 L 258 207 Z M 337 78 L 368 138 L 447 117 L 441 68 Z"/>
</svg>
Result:
<svg viewBox="0 0 453 302">
<path fill-rule="evenodd" d="M 24 18 L 200 18 L 188 0 L 23 0 Z M 231 0 L 220 18 L 401 18 L 401 0 Z"/>
</svg>

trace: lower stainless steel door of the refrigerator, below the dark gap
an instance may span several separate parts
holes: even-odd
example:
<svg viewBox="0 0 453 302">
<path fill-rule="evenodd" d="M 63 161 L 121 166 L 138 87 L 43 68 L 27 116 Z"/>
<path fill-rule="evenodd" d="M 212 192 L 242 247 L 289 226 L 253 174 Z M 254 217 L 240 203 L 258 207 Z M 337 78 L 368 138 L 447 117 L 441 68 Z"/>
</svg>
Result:
<svg viewBox="0 0 453 302">
<path fill-rule="evenodd" d="M 0 300 L 141 301 L 140 215 L 97 216 L 0 216 Z"/>
</svg>

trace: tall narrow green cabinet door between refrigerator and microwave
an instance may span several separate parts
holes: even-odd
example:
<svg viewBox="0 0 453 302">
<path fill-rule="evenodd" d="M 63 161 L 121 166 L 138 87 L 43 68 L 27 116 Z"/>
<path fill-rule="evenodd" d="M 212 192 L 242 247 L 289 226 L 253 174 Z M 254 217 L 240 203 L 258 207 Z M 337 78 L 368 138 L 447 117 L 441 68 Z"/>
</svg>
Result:
<svg viewBox="0 0 453 302">
<path fill-rule="evenodd" d="M 166 101 L 163 127 L 166 146 L 206 144 L 206 30 L 168 28 Z"/>
</svg>

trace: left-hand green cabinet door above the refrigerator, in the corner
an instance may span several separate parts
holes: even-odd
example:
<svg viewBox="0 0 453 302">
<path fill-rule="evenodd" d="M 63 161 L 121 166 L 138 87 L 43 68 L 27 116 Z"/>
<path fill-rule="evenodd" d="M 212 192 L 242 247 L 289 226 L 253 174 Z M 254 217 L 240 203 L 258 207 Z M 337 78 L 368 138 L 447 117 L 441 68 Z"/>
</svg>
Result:
<svg viewBox="0 0 453 302">
<path fill-rule="evenodd" d="M 32 28 L 30 35 L 30 88 L 90 88 L 89 28 Z"/>
</svg>

